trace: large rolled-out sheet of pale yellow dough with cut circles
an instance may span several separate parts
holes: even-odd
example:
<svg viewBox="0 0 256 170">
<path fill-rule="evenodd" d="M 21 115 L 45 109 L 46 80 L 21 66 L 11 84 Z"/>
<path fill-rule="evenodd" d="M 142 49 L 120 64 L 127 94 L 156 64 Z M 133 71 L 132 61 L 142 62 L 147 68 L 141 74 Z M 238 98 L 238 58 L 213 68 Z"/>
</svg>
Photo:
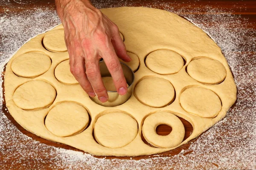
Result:
<svg viewBox="0 0 256 170">
<path fill-rule="evenodd" d="M 122 7 L 102 9 L 102 12 L 119 26 L 127 51 L 139 59 L 131 98 L 122 105 L 105 107 L 93 102 L 79 84 L 61 82 L 59 76 L 67 74 L 67 63 L 67 70 L 60 73 L 58 69 L 69 56 L 63 26 L 59 25 L 29 40 L 6 66 L 6 106 L 22 127 L 42 138 L 93 155 L 139 156 L 175 149 L 224 118 L 236 101 L 236 85 L 221 49 L 204 31 L 176 14 L 159 9 Z M 156 55 L 151 64 L 147 63 L 148 68 L 155 69 L 151 71 L 145 65 L 145 58 L 163 49 L 173 51 L 175 59 L 173 55 L 168 55 L 170 58 Z M 19 72 L 12 64 L 32 51 L 49 56 L 52 64 L 41 75 L 38 70 L 29 71 L 29 76 L 38 74 L 35 78 L 18 77 L 14 72 Z M 186 65 L 183 66 L 180 56 Z M 91 121 L 86 126 L 88 114 Z M 76 119 L 72 121 L 74 116 Z M 193 126 L 192 134 L 184 141 L 184 127 L 178 117 Z M 169 136 L 156 135 L 155 127 L 161 123 L 172 126 Z M 142 133 L 156 147 L 145 144 Z"/>
</svg>

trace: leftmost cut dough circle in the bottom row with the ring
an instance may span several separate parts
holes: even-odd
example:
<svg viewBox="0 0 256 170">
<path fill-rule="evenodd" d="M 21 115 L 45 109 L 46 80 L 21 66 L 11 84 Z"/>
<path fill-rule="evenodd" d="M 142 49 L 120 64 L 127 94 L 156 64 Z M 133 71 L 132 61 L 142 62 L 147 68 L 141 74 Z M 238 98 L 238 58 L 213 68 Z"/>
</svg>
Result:
<svg viewBox="0 0 256 170">
<path fill-rule="evenodd" d="M 81 133 L 88 125 L 87 110 L 76 103 L 64 102 L 52 108 L 46 116 L 45 126 L 56 136 L 65 137 Z"/>
</svg>

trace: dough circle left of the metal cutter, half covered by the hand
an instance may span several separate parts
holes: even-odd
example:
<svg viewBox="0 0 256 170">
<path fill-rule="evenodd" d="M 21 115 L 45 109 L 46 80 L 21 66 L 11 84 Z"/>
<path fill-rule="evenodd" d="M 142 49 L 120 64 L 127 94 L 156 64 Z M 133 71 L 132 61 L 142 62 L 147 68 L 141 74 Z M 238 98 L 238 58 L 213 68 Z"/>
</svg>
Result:
<svg viewBox="0 0 256 170">
<path fill-rule="evenodd" d="M 78 84 L 79 82 L 70 72 L 69 59 L 59 63 L 54 71 L 56 79 L 63 84 Z"/>
</svg>

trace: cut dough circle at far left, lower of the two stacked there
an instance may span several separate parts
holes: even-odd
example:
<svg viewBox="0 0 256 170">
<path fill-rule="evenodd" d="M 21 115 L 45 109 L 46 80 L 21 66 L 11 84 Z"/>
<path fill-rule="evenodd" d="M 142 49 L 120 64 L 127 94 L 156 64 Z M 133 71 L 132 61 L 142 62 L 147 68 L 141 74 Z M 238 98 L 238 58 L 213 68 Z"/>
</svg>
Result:
<svg viewBox="0 0 256 170">
<path fill-rule="evenodd" d="M 13 101 L 22 109 L 48 108 L 56 97 L 55 88 L 47 82 L 32 80 L 20 85 L 13 94 Z"/>
</svg>

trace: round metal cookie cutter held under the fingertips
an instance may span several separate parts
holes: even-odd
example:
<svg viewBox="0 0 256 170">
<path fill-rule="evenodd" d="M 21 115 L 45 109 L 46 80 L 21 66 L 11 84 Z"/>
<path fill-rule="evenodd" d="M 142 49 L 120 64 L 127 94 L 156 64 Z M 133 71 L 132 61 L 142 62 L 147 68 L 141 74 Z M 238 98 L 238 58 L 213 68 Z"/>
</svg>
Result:
<svg viewBox="0 0 256 170">
<path fill-rule="evenodd" d="M 128 84 L 128 88 L 127 88 L 127 93 L 123 96 L 119 95 L 117 91 L 107 91 L 108 92 L 108 101 L 105 103 L 102 103 L 99 99 L 98 96 L 95 97 L 91 97 L 91 99 L 96 102 L 99 105 L 102 106 L 107 106 L 107 107 L 114 107 L 117 105 L 122 105 L 123 103 L 125 103 L 132 94 L 132 87 L 134 84 L 134 72 L 132 71 L 132 69 L 126 65 L 123 62 L 120 62 L 121 66 L 122 66 L 122 70 L 126 79 L 126 82 Z M 110 72 L 108 71 L 107 65 L 105 64 L 104 60 L 99 62 L 99 69 L 100 69 L 100 74 L 102 77 L 111 77 Z"/>
</svg>

